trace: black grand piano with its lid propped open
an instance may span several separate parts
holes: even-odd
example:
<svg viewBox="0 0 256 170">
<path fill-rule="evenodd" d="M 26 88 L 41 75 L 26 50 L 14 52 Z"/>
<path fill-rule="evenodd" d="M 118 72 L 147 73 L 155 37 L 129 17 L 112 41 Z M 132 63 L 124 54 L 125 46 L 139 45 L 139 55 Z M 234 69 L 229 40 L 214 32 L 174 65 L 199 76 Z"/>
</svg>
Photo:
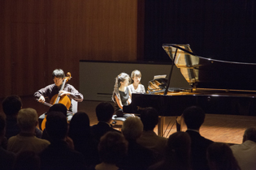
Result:
<svg viewBox="0 0 256 170">
<path fill-rule="evenodd" d="M 124 113 L 156 108 L 161 118 L 158 135 L 163 135 L 163 117 L 179 117 L 193 105 L 210 114 L 256 116 L 256 64 L 199 57 L 189 45 L 167 44 L 163 49 L 173 63 L 168 78 L 151 80 L 145 94 L 132 94 Z M 174 66 L 189 88 L 171 87 Z"/>
</svg>

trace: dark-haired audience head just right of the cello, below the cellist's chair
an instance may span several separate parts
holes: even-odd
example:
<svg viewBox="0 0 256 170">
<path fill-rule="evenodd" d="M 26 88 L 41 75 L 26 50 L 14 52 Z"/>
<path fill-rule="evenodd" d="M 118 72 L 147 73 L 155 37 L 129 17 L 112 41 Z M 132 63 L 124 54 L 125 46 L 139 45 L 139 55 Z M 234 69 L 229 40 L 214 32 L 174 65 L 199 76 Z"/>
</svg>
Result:
<svg viewBox="0 0 256 170">
<path fill-rule="evenodd" d="M 68 136 L 70 138 L 90 136 L 89 117 L 84 112 L 74 114 L 69 123 Z"/>
</svg>

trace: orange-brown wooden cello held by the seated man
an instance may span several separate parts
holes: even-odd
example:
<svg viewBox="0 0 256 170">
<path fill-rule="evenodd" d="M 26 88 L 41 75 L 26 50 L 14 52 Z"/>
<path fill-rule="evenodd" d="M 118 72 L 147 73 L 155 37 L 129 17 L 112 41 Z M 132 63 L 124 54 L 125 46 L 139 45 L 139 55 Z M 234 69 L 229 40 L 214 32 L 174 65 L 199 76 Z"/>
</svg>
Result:
<svg viewBox="0 0 256 170">
<path fill-rule="evenodd" d="M 63 83 L 62 83 L 59 91 L 63 91 L 63 88 L 65 87 L 65 83 L 67 83 L 68 80 L 70 80 L 71 78 L 72 78 L 71 73 L 68 72 L 67 77 L 64 78 Z M 46 104 L 50 107 L 53 106 L 54 104 L 64 104 L 66 106 L 67 110 L 68 110 L 71 107 L 71 100 L 66 95 L 60 96 L 59 93 L 58 93 L 50 99 L 50 104 L 48 104 L 46 102 L 44 102 L 43 104 Z M 67 111 L 67 113 L 72 113 L 72 112 Z M 45 129 L 46 129 L 46 117 L 41 122 L 41 130 L 45 130 Z"/>
</svg>

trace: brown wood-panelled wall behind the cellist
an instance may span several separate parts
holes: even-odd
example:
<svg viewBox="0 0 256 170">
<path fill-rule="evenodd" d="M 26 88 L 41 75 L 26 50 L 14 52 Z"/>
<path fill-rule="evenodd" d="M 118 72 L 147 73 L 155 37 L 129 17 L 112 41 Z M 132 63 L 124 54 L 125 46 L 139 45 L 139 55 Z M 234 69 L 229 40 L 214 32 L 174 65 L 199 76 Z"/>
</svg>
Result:
<svg viewBox="0 0 256 170">
<path fill-rule="evenodd" d="M 143 7 L 142 0 L 1 0 L 0 97 L 33 95 L 53 83 L 56 68 L 71 72 L 78 89 L 80 60 L 141 58 Z"/>
</svg>

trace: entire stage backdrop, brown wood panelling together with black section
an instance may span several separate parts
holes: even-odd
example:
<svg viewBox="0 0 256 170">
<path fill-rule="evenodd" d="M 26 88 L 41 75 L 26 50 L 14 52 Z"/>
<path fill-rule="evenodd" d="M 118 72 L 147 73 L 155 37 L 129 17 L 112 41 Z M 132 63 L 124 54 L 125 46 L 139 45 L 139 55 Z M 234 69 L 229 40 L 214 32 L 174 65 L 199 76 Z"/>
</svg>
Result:
<svg viewBox="0 0 256 170">
<path fill-rule="evenodd" d="M 190 44 L 202 57 L 256 63 L 255 5 L 252 0 L 1 0 L 0 97 L 33 95 L 52 83 L 56 68 L 71 72 L 79 89 L 80 60 L 171 62 L 163 44 Z"/>
</svg>

